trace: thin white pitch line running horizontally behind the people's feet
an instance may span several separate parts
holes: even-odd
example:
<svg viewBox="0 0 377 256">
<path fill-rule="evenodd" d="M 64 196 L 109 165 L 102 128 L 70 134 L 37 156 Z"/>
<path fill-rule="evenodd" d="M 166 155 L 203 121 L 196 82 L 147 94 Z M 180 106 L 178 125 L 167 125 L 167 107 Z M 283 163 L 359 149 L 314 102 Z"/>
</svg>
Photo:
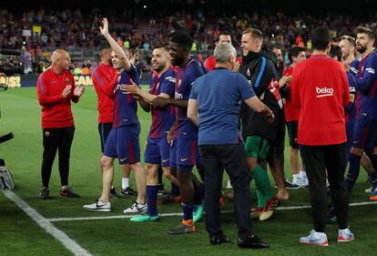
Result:
<svg viewBox="0 0 377 256">
<path fill-rule="evenodd" d="M 377 201 L 365 201 L 365 202 L 354 202 L 350 203 L 350 206 L 364 206 L 377 204 Z M 276 210 L 302 210 L 310 209 L 310 205 L 298 205 L 298 206 L 283 206 L 278 207 Z M 232 213 L 233 210 L 221 210 L 221 213 Z M 171 216 L 182 216 L 181 212 L 170 212 L 170 213 L 160 213 L 160 217 L 171 217 Z M 113 215 L 113 216 L 95 216 L 95 217 L 76 217 L 76 218 L 53 218 L 47 219 L 51 222 L 55 221 L 74 221 L 74 220 L 114 220 L 114 219 L 130 219 L 135 215 Z"/>
</svg>

